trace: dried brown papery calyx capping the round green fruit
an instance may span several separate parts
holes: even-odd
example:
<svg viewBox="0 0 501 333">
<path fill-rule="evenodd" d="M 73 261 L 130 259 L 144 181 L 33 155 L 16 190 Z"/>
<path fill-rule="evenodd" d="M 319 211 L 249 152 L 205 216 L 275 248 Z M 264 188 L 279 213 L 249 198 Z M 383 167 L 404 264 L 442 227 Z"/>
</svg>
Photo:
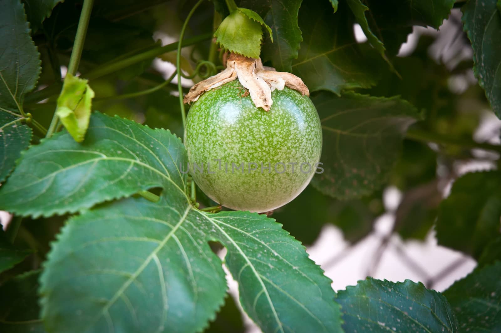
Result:
<svg viewBox="0 0 501 333">
<path fill-rule="evenodd" d="M 299 91 L 302 95 L 310 95 L 308 87 L 299 77 L 287 72 L 277 72 L 274 68 L 265 67 L 261 59 L 247 58 L 231 53 L 226 61 L 226 69 L 195 84 L 184 97 L 184 103 L 194 102 L 205 91 L 214 89 L 238 78 L 241 85 L 248 89 L 256 107 L 269 111 L 272 106 L 272 91 L 283 90 L 285 86 Z"/>
</svg>

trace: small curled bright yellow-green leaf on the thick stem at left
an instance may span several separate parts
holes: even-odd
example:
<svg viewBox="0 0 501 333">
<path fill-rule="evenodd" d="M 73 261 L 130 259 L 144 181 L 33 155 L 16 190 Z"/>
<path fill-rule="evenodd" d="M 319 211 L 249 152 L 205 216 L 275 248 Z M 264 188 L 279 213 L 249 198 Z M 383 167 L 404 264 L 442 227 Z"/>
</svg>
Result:
<svg viewBox="0 0 501 333">
<path fill-rule="evenodd" d="M 56 114 L 75 141 L 82 142 L 89 126 L 94 91 L 88 80 L 68 73 L 58 97 Z"/>
</svg>

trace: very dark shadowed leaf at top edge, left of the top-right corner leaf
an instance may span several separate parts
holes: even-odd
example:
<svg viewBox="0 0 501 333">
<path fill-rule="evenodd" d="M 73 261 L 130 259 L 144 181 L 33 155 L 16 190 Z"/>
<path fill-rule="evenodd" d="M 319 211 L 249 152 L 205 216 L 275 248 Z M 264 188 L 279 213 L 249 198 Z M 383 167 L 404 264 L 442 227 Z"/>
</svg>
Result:
<svg viewBox="0 0 501 333">
<path fill-rule="evenodd" d="M 365 0 L 369 7 L 369 26 L 384 43 L 389 55 L 396 55 L 412 26 L 438 29 L 454 6 L 455 0 L 378 1 Z"/>
</svg>

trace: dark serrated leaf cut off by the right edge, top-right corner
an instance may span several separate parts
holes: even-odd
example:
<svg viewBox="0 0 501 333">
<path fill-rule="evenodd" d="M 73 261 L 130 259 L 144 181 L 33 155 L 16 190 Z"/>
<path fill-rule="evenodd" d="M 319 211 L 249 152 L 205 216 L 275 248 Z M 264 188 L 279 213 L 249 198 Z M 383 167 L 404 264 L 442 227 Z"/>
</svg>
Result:
<svg viewBox="0 0 501 333">
<path fill-rule="evenodd" d="M 498 3 L 499 5 L 499 3 Z M 473 72 L 492 110 L 501 118 L 501 14 L 495 0 L 469 1 L 461 21 L 473 48 Z"/>
</svg>

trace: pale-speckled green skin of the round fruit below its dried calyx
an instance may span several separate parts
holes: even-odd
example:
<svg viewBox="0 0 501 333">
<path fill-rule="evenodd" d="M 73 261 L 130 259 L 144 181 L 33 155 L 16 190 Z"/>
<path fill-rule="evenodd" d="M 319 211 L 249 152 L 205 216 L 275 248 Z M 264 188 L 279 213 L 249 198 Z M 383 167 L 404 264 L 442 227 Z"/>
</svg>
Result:
<svg viewBox="0 0 501 333">
<path fill-rule="evenodd" d="M 222 206 L 271 211 L 296 198 L 315 174 L 322 152 L 315 106 L 308 96 L 287 87 L 273 91 L 272 100 L 270 111 L 258 109 L 234 80 L 202 94 L 188 112 L 184 142 L 190 174 Z M 221 160 L 220 168 L 216 159 Z M 236 169 L 242 162 L 243 174 Z M 256 166 L 249 164 L 253 162 L 254 171 Z M 276 165 L 280 162 L 285 164 L 284 173 L 284 165 Z M 294 172 L 289 163 L 298 163 Z M 311 170 L 304 164 L 302 172 L 301 163 L 309 163 Z M 186 172 L 187 166 L 182 165 L 181 171 Z"/>
</svg>

